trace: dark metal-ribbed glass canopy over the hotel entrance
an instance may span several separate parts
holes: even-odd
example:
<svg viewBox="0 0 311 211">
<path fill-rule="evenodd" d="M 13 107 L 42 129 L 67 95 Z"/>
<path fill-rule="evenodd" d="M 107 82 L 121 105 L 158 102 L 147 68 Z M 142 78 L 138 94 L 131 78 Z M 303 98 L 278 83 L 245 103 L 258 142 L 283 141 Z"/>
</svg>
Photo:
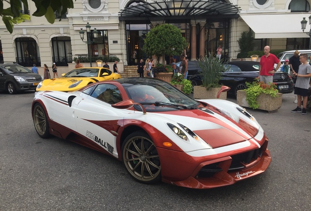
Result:
<svg viewBox="0 0 311 211">
<path fill-rule="evenodd" d="M 138 3 L 124 8 L 119 12 L 120 21 L 129 20 L 129 17 L 153 18 L 153 17 L 178 17 L 200 16 L 206 19 L 206 16 L 236 15 L 240 7 L 232 3 L 226 3 L 215 0 L 158 0 L 147 3 Z"/>
</svg>

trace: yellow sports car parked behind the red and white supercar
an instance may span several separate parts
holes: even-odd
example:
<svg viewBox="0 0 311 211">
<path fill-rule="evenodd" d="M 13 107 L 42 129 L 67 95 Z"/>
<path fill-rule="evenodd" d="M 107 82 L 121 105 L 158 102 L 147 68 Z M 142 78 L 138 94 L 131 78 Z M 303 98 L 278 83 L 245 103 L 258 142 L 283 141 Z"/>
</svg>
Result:
<svg viewBox="0 0 311 211">
<path fill-rule="evenodd" d="M 45 79 L 39 83 L 36 91 L 76 91 L 88 84 L 119 78 L 119 74 L 103 67 L 81 67 L 67 72 L 61 78 Z"/>
</svg>

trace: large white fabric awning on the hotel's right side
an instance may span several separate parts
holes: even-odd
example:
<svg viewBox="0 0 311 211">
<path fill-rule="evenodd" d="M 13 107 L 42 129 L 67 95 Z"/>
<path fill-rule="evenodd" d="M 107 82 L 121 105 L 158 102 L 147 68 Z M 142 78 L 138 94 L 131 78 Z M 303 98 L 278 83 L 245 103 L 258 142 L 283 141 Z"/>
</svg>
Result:
<svg viewBox="0 0 311 211">
<path fill-rule="evenodd" d="M 287 14 L 240 14 L 246 24 L 255 32 L 255 38 L 309 38 L 301 30 L 300 21 L 308 20 L 310 13 Z M 309 24 L 308 24 L 309 26 Z M 305 32 L 310 31 L 310 27 Z"/>
</svg>

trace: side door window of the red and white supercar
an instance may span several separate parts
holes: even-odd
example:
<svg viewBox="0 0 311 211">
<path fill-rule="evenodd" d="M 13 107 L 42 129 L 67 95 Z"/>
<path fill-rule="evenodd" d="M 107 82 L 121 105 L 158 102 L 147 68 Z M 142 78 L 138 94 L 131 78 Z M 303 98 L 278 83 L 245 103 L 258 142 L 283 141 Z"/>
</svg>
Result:
<svg viewBox="0 0 311 211">
<path fill-rule="evenodd" d="M 119 89 L 112 84 L 99 84 L 91 94 L 93 98 L 104 101 L 110 105 L 122 101 L 122 96 Z"/>
</svg>

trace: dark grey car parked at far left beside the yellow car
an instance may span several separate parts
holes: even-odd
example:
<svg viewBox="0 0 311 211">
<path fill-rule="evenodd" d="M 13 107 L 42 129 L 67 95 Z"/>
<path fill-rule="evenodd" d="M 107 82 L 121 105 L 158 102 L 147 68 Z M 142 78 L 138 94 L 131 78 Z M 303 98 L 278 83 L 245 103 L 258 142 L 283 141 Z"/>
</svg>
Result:
<svg viewBox="0 0 311 211">
<path fill-rule="evenodd" d="M 17 91 L 36 90 L 43 79 L 43 76 L 17 63 L 0 64 L 0 90 L 6 90 L 10 94 L 15 94 Z"/>
</svg>

